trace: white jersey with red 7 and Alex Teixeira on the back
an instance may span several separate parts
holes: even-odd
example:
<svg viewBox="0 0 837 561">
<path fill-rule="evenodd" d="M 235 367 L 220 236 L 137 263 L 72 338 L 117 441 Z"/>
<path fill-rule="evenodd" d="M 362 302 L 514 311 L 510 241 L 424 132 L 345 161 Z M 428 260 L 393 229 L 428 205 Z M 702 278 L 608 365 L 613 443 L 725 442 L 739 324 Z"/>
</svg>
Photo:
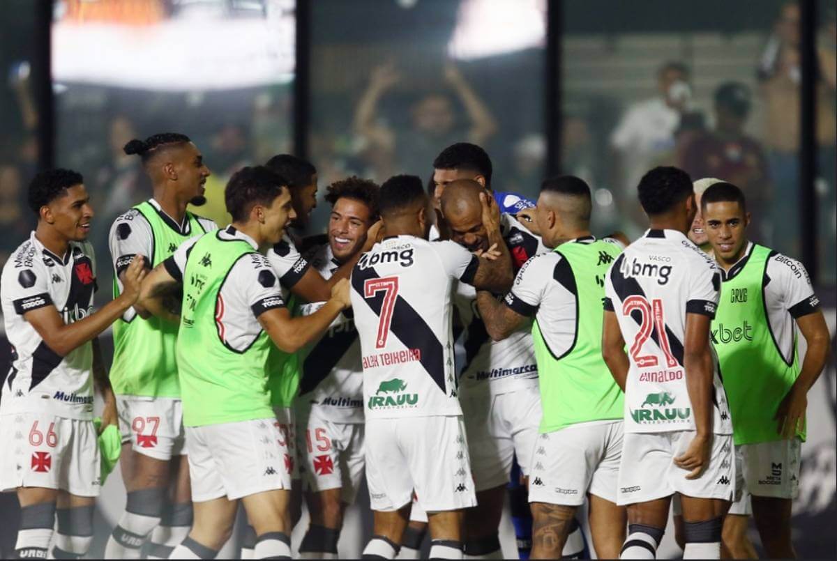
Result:
<svg viewBox="0 0 837 561">
<path fill-rule="evenodd" d="M 451 293 L 479 260 L 454 242 L 393 236 L 352 270 L 367 419 L 461 415 L 454 377 Z"/>
</svg>

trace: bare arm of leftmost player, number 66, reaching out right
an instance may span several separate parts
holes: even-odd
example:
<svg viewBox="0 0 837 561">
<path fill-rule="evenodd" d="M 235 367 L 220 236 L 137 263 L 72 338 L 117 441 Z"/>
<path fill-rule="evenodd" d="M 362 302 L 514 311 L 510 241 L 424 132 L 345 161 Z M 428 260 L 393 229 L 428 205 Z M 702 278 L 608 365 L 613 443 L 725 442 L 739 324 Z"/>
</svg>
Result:
<svg viewBox="0 0 837 561">
<path fill-rule="evenodd" d="M 126 269 L 125 285 L 122 293 L 106 303 L 95 314 L 80 319 L 73 324 L 64 324 L 64 319 L 55 306 L 44 306 L 23 314 L 35 331 L 44 339 L 49 349 L 59 356 L 66 356 L 82 344 L 94 339 L 107 329 L 126 309 L 131 308 L 140 293 L 140 284 L 146 276 L 144 259 L 137 256 Z"/>
</svg>

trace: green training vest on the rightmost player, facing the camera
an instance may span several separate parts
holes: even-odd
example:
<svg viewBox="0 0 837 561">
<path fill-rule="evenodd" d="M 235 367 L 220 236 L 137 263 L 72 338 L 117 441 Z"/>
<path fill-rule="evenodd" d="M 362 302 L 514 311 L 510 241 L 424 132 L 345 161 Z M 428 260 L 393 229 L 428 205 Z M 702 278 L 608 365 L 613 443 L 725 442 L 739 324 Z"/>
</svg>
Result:
<svg viewBox="0 0 837 561">
<path fill-rule="evenodd" d="M 773 416 L 799 375 L 796 336 L 788 365 L 773 339 L 764 304 L 764 270 L 771 250 L 754 245 L 744 268 L 721 284 L 712 321 L 736 444 L 782 440 Z M 804 440 L 805 431 L 798 433 Z"/>
</svg>

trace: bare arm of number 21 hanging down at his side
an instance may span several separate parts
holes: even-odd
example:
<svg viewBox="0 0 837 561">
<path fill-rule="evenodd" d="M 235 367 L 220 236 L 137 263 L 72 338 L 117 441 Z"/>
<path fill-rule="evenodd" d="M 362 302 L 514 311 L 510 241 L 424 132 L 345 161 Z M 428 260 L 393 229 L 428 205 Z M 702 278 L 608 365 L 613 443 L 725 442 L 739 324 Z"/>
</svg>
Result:
<svg viewBox="0 0 837 561">
<path fill-rule="evenodd" d="M 704 314 L 686 314 L 686 337 L 683 344 L 683 368 L 689 392 L 695 437 L 686 453 L 675 458 L 675 465 L 689 470 L 687 479 L 700 477 L 709 464 L 712 441 L 712 354 L 709 348 L 711 318 Z"/>
</svg>

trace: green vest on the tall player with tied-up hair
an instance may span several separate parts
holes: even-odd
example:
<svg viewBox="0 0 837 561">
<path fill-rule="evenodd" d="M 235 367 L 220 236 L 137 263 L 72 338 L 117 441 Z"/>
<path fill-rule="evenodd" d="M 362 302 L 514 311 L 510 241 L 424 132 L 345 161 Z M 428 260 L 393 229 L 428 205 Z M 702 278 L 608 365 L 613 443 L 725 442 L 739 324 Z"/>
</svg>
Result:
<svg viewBox="0 0 837 561">
<path fill-rule="evenodd" d="M 151 225 L 151 255 L 146 255 L 151 268 L 157 267 L 174 253 L 182 242 L 203 233 L 203 227 L 191 212 L 186 213 L 189 233 L 176 232 L 163 222 L 157 209 L 148 201 L 134 207 Z M 114 271 L 113 297 L 119 296 L 119 285 Z M 180 397 L 174 342 L 177 325 L 155 316 L 142 319 L 135 315 L 131 321 L 122 318 L 113 324 L 113 365 L 110 384 L 119 395 L 150 397 Z"/>
</svg>

